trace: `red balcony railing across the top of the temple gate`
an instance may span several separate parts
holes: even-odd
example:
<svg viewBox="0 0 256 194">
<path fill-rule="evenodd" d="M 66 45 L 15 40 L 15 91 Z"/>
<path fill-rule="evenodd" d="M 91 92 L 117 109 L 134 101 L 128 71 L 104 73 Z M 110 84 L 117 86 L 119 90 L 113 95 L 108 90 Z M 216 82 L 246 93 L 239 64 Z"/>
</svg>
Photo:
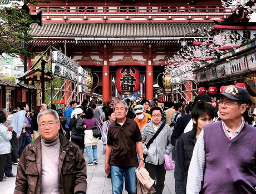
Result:
<svg viewBox="0 0 256 194">
<path fill-rule="evenodd" d="M 21 8 L 21 7 L 19 7 Z M 222 6 L 30 6 L 32 14 L 43 12 L 44 22 L 148 22 L 160 19 L 165 22 L 200 18 L 224 19 L 232 14 Z M 71 19 L 72 18 L 72 19 Z M 111 20 L 111 18 L 113 18 Z M 120 19 L 121 18 L 121 19 Z M 163 19 L 164 18 L 164 19 Z M 185 20 L 184 20 L 185 18 Z M 110 20 L 109 20 L 110 19 Z M 109 21 L 108 21 L 109 20 Z"/>
</svg>

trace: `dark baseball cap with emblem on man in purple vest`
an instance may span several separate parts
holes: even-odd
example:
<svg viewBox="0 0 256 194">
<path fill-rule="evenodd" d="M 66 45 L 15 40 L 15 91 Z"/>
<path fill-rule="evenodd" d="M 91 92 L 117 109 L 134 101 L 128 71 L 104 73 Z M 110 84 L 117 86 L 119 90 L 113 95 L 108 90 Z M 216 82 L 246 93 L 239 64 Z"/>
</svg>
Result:
<svg viewBox="0 0 256 194">
<path fill-rule="evenodd" d="M 217 93 L 216 96 L 217 97 L 225 96 L 225 97 L 227 97 L 231 100 L 242 101 L 242 102 L 247 103 L 247 104 L 250 101 L 249 92 L 244 88 L 240 88 L 240 87 L 237 87 L 237 86 L 234 86 L 234 85 L 227 86 L 224 89 L 223 93 Z"/>
</svg>

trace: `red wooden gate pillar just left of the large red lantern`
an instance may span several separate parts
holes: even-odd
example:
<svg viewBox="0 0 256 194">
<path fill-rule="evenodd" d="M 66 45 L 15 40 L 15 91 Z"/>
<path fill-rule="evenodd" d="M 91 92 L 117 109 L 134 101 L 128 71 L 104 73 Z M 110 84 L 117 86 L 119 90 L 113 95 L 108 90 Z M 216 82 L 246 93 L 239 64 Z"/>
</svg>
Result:
<svg viewBox="0 0 256 194">
<path fill-rule="evenodd" d="M 107 45 L 104 44 L 104 61 L 102 66 L 102 101 L 106 102 L 110 98 L 110 74 L 109 60 L 107 59 Z"/>
</svg>

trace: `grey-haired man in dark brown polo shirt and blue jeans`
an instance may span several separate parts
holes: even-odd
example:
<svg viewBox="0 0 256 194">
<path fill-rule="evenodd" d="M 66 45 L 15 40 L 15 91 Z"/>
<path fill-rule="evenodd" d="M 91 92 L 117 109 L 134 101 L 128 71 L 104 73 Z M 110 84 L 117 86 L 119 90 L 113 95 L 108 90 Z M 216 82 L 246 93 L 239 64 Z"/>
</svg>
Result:
<svg viewBox="0 0 256 194">
<path fill-rule="evenodd" d="M 144 166 L 141 133 L 134 120 L 126 117 L 128 106 L 118 100 L 114 104 L 116 121 L 109 127 L 105 157 L 105 172 L 111 171 L 112 193 L 121 194 L 124 186 L 129 194 L 137 193 L 136 168 Z M 137 153 L 140 157 L 138 163 Z"/>
</svg>

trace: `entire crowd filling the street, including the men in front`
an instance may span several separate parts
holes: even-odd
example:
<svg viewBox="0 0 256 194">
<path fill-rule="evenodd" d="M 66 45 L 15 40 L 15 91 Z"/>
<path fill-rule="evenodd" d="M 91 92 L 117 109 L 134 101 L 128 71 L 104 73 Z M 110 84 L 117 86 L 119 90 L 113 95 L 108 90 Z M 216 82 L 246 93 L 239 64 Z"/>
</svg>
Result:
<svg viewBox="0 0 256 194">
<path fill-rule="evenodd" d="M 115 194 L 124 181 L 128 193 L 137 193 L 135 170 L 141 167 L 155 193 L 162 193 L 166 155 L 175 163 L 176 193 L 256 193 L 256 108 L 250 117 L 249 93 L 235 86 L 217 99 L 71 101 L 51 110 L 42 104 L 32 116 L 26 102 L 17 103 L 11 115 L 0 110 L 0 181 L 16 177 L 14 164 L 16 193 L 49 193 L 49 186 L 57 193 L 86 193 L 86 166 L 98 164 L 102 141 Z M 101 137 L 93 135 L 95 127 Z"/>
</svg>

